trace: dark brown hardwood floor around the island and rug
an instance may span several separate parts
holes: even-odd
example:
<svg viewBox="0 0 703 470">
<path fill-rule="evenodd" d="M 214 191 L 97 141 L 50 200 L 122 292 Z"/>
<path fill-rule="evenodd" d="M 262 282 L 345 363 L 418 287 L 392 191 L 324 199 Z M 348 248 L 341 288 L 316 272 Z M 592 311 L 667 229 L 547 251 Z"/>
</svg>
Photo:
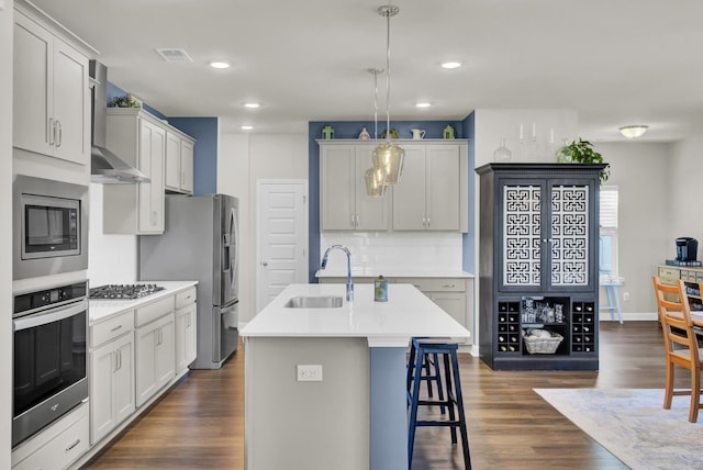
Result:
<svg viewBox="0 0 703 470">
<path fill-rule="evenodd" d="M 625 468 L 532 390 L 663 388 L 663 343 L 656 322 L 601 323 L 600 346 L 598 372 L 493 371 L 460 355 L 473 468 Z M 677 385 L 687 387 L 685 371 L 677 373 Z M 243 469 L 242 348 L 221 370 L 192 371 L 87 468 Z M 413 469 L 460 468 L 461 454 L 451 447 L 448 430 L 417 430 Z"/>
</svg>

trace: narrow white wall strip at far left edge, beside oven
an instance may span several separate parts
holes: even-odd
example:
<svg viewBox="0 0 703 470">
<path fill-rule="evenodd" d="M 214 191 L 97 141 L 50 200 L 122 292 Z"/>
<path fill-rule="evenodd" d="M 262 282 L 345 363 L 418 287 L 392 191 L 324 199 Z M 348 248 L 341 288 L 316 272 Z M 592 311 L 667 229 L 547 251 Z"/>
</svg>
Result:
<svg viewBox="0 0 703 470">
<path fill-rule="evenodd" d="M 0 9 L 0 220 L 12 221 L 12 5 L 13 0 L 2 2 Z M 5 222 L 7 223 L 7 222 Z M 0 468 L 10 468 L 12 422 L 12 231 L 0 231 Z"/>
</svg>

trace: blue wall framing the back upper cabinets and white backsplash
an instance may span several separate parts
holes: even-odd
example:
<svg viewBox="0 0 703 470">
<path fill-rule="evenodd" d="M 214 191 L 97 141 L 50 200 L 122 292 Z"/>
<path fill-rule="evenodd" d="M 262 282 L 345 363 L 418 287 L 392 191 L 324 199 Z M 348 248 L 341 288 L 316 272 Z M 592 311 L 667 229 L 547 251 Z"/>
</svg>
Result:
<svg viewBox="0 0 703 470">
<path fill-rule="evenodd" d="M 473 114 L 470 114 L 471 118 Z M 469 136 L 468 131 L 473 132 L 473 118 L 471 118 L 471 124 L 467 124 L 467 120 L 464 121 L 392 121 L 391 128 L 398 131 L 399 138 L 411 138 L 411 128 L 423 128 L 426 131 L 425 138 L 442 138 L 443 131 L 447 124 L 454 127 L 456 138 L 467 138 Z M 309 149 L 309 189 L 310 189 L 310 213 L 308 215 L 310 224 L 310 257 L 309 259 L 309 282 L 315 283 L 315 272 L 320 268 L 320 146 L 315 142 L 317 138 L 323 138 L 322 130 L 324 126 L 331 125 L 334 128 L 334 138 L 358 138 L 359 133 L 364 127 L 367 132 L 373 136 L 375 124 L 373 121 L 311 121 L 308 123 L 308 149 Z M 378 123 L 379 138 L 380 134 L 386 128 L 386 122 Z M 372 137 L 371 137 L 372 138 Z M 473 232 L 473 144 L 469 142 L 469 235 Z M 471 236 L 471 240 L 473 237 Z M 465 256 L 466 256 L 466 243 L 465 242 Z M 473 258 L 473 246 L 471 245 L 471 265 Z M 466 264 L 464 264 L 466 266 Z M 466 269 L 466 268 L 465 268 Z M 473 272 L 473 269 L 468 270 Z"/>
</svg>

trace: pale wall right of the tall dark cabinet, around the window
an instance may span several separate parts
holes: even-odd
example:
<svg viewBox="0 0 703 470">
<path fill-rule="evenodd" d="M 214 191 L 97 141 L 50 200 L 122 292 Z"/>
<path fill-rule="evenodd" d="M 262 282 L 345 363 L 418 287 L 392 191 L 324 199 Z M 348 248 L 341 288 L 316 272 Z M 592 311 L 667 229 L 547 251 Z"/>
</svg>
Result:
<svg viewBox="0 0 703 470">
<path fill-rule="evenodd" d="M 679 219 L 671 211 L 671 198 L 678 186 L 671 171 L 676 160 L 671 155 L 673 145 L 596 143 L 594 148 L 611 164 L 611 178 L 605 184 L 618 188 L 618 268 L 620 276 L 625 278 L 625 286 L 620 288 L 623 316 L 635 320 L 649 314 L 654 320 L 657 306 L 651 276 L 657 265 L 676 256 L 673 239 L 687 232 L 673 226 Z M 698 167 L 701 175 L 701 165 Z M 703 194 L 699 191 L 700 195 Z M 699 227 L 703 228 L 701 224 L 703 221 L 699 221 Z M 698 233 L 703 239 L 703 230 Z M 628 301 L 624 300 L 625 292 L 629 293 Z"/>
</svg>

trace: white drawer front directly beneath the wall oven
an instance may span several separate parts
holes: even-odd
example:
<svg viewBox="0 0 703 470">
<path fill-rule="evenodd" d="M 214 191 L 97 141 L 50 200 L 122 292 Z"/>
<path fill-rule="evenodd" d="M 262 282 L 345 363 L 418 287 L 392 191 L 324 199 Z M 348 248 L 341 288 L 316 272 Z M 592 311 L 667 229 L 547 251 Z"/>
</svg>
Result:
<svg viewBox="0 0 703 470">
<path fill-rule="evenodd" d="M 12 450 L 13 470 L 65 469 L 90 447 L 88 403 Z"/>
</svg>

